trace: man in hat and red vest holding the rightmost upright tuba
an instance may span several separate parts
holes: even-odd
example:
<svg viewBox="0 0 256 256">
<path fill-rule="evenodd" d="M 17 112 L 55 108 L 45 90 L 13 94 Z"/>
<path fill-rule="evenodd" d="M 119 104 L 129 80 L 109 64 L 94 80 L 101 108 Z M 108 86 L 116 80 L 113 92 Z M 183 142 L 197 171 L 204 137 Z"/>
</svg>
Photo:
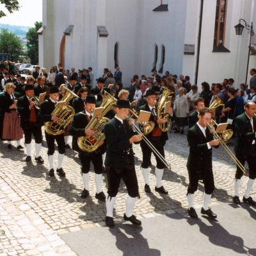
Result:
<svg viewBox="0 0 256 256">
<path fill-rule="evenodd" d="M 145 94 L 147 103 L 140 107 L 140 110 L 151 112 L 149 121 L 152 121 L 155 123 L 154 129 L 145 135 L 147 139 L 154 145 L 154 147 L 157 149 L 157 151 L 164 157 L 164 145 L 166 143 L 166 140 L 168 140 L 167 132 L 163 132 L 159 124 L 163 124 L 164 122 L 167 122 L 166 118 L 162 118 L 161 116 L 157 116 L 157 109 L 156 109 L 156 103 L 157 103 L 157 93 L 149 89 L 147 90 L 147 93 Z M 172 115 L 172 108 L 168 109 L 168 114 Z M 151 193 L 151 189 L 149 186 L 149 166 L 150 166 L 150 159 L 152 150 L 148 147 L 147 143 L 145 141 L 141 141 L 140 143 L 142 154 L 143 154 L 143 160 L 141 164 L 143 178 L 145 180 L 145 192 Z M 154 152 L 153 152 L 154 153 Z M 154 153 L 154 156 L 156 157 L 156 188 L 155 191 L 158 193 L 163 193 L 165 195 L 168 195 L 168 191 L 164 189 L 162 186 L 162 178 L 164 173 L 164 163 L 159 159 L 159 157 L 156 156 Z"/>
</svg>

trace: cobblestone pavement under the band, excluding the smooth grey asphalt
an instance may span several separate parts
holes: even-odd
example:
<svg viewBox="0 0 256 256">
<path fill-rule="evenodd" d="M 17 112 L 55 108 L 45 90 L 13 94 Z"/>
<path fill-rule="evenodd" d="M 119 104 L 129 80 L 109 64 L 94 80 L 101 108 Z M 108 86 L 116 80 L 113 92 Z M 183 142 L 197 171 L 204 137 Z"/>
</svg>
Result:
<svg viewBox="0 0 256 256">
<path fill-rule="evenodd" d="M 34 142 L 34 141 L 33 141 Z M 71 144 L 71 138 L 70 138 Z M 22 143 L 24 145 L 24 141 Z M 34 146 L 34 144 L 32 143 Z M 13 141 L 13 146 L 15 141 Z M 233 149 L 234 141 L 228 143 Z M 188 158 L 188 142 L 185 134 L 170 134 L 166 143 L 166 160 L 172 170 L 164 170 L 163 186 L 169 195 L 159 195 L 154 191 L 156 178 L 154 168 L 156 161 L 152 157 L 152 171 L 150 186 L 153 193 L 146 195 L 143 191 L 144 182 L 141 175 L 141 150 L 134 145 L 136 157 L 136 172 L 141 198 L 137 200 L 134 214 L 138 218 L 154 218 L 186 212 L 188 202 L 186 189 L 188 186 L 188 172 L 186 161 Z M 34 148 L 33 151 L 35 152 Z M 47 147 L 44 142 L 42 157 L 44 164 L 26 163 L 25 150 L 13 147 L 7 149 L 6 141 L 0 141 L 0 256 L 5 255 L 76 255 L 60 238 L 60 234 L 83 230 L 84 228 L 105 226 L 106 214 L 104 202 L 95 199 L 94 174 L 90 173 L 90 196 L 80 197 L 83 190 L 80 164 L 77 153 L 67 150 L 64 157 L 63 169 L 65 178 L 48 177 L 49 164 L 47 161 Z M 35 155 L 32 156 L 32 159 Z M 57 154 L 54 164 L 57 167 Z M 216 190 L 211 205 L 221 202 L 231 203 L 235 164 L 222 148 L 213 150 L 213 172 Z M 106 173 L 103 175 L 102 189 L 107 191 Z M 246 186 L 246 177 L 242 178 L 241 195 Z M 202 207 L 204 188 L 199 184 L 195 195 L 195 207 Z M 252 196 L 255 199 L 255 186 Z M 120 193 L 116 197 L 115 222 L 121 223 L 125 211 L 126 188 L 120 186 Z"/>
</svg>

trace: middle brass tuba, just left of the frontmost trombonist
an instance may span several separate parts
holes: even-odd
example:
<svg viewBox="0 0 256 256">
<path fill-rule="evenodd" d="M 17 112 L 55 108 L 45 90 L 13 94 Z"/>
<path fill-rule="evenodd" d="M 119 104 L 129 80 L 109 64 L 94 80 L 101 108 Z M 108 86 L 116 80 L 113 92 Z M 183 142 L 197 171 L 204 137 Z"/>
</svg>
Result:
<svg viewBox="0 0 256 256">
<path fill-rule="evenodd" d="M 99 147 L 99 142 L 105 140 L 104 126 L 109 121 L 109 118 L 104 117 L 104 115 L 108 113 L 115 103 L 116 99 L 108 92 L 105 92 L 105 97 L 100 104 L 100 108 L 104 108 L 102 114 L 100 116 L 93 116 L 85 127 L 85 129 L 93 129 L 95 134 L 93 136 L 81 136 L 77 139 L 77 145 L 81 150 L 93 152 Z"/>
</svg>

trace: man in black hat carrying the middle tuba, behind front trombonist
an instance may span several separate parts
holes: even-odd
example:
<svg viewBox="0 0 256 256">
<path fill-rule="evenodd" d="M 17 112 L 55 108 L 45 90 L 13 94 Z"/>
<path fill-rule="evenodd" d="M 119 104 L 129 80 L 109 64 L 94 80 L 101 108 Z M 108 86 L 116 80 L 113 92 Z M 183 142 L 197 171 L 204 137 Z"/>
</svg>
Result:
<svg viewBox="0 0 256 256">
<path fill-rule="evenodd" d="M 89 170 L 90 170 L 90 162 L 92 161 L 94 172 L 95 172 L 95 184 L 96 184 L 96 194 L 95 198 L 98 200 L 104 201 L 106 196 L 102 192 L 101 182 L 102 182 L 102 154 L 106 151 L 106 147 L 103 141 L 99 141 L 99 148 L 94 150 L 93 152 L 84 152 L 77 145 L 77 139 L 81 136 L 92 136 L 93 143 L 93 135 L 95 131 L 92 128 L 85 129 L 86 126 L 90 123 L 90 120 L 93 118 L 93 112 L 96 106 L 96 99 L 94 96 L 87 96 L 84 100 L 84 111 L 77 113 L 74 115 L 70 126 L 70 134 L 73 136 L 72 148 L 76 150 L 79 154 L 79 159 L 82 164 L 82 177 L 84 182 L 84 190 L 81 194 L 81 198 L 86 198 L 89 195 Z M 89 138 L 90 139 L 90 138 Z M 104 145 L 103 145 L 104 144 Z"/>
</svg>

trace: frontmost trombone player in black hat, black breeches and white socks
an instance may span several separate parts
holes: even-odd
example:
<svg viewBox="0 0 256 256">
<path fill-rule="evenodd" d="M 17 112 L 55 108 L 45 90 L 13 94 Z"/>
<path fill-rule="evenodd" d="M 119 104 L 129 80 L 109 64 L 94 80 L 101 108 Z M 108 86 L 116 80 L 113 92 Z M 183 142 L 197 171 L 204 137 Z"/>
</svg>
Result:
<svg viewBox="0 0 256 256">
<path fill-rule="evenodd" d="M 108 175 L 108 196 L 106 198 L 106 225 L 113 227 L 113 209 L 120 180 L 123 179 L 127 188 L 126 209 L 124 220 L 134 225 L 141 225 L 141 221 L 132 214 L 136 198 L 139 197 L 138 180 L 134 168 L 134 153 L 132 143 L 141 141 L 141 134 L 135 134 L 126 120 L 129 114 L 129 100 L 117 100 L 116 116 L 104 127 L 106 136 L 106 172 Z"/>
</svg>

